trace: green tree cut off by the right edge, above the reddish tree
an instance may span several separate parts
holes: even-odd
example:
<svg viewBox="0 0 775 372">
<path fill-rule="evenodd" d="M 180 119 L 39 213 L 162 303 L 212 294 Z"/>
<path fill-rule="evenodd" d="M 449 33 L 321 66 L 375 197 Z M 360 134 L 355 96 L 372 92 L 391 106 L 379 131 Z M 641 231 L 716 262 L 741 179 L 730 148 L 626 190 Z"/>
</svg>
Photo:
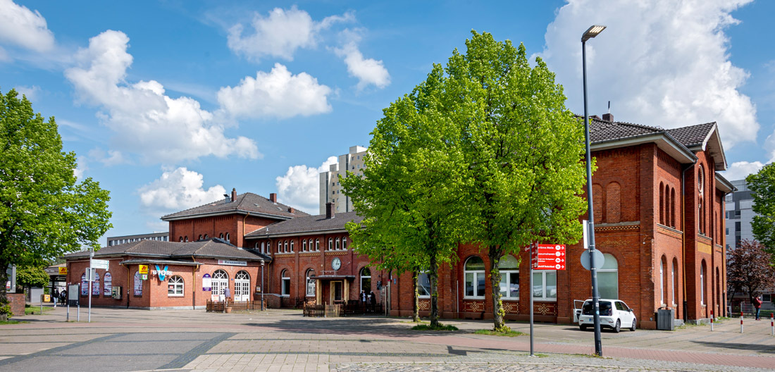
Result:
<svg viewBox="0 0 775 372">
<path fill-rule="evenodd" d="M 765 165 L 756 174 L 746 177 L 748 188 L 753 191 L 753 236 L 766 246 L 767 252 L 775 253 L 775 163 Z M 775 259 L 773 259 L 775 260 Z"/>
</svg>

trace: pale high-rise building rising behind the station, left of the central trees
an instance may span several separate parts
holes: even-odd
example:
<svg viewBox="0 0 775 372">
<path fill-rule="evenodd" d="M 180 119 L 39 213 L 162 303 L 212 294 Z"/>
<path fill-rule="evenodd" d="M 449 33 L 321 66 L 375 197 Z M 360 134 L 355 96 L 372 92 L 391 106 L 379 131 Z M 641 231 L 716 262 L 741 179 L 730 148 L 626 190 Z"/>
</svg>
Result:
<svg viewBox="0 0 775 372">
<path fill-rule="evenodd" d="M 337 213 L 353 210 L 353 202 L 342 192 L 339 177 L 347 177 L 347 171 L 363 176 L 363 156 L 368 149 L 350 146 L 350 153 L 339 155 L 339 162 L 331 164 L 329 171 L 320 173 L 320 214 L 325 215 L 325 203 L 333 203 Z"/>
</svg>

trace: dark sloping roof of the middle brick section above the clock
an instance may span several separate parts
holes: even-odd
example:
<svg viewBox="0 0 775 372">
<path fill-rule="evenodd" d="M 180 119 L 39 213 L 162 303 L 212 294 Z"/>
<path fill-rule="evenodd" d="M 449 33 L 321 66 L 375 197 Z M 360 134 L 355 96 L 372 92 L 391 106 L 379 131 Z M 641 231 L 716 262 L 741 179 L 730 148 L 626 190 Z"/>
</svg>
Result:
<svg viewBox="0 0 775 372">
<path fill-rule="evenodd" d="M 273 223 L 270 226 L 257 229 L 246 234 L 246 238 L 257 238 L 277 235 L 288 235 L 305 232 L 343 230 L 347 222 L 361 222 L 363 217 L 356 212 L 336 213 L 332 219 L 326 219 L 325 215 L 308 215 L 296 217 L 288 221 Z"/>
</svg>

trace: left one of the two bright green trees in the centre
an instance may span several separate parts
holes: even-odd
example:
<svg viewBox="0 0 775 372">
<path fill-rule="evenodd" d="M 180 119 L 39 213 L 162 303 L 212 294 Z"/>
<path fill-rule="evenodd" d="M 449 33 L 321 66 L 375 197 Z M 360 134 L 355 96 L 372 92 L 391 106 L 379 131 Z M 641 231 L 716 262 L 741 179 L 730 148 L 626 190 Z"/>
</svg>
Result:
<svg viewBox="0 0 775 372">
<path fill-rule="evenodd" d="M 460 136 L 450 133 L 457 128 L 441 112 L 446 106 L 436 91 L 443 78 L 435 65 L 411 95 L 385 108 L 371 133 L 363 178 L 348 172 L 341 180 L 364 217 L 362 225 L 348 226 L 358 253 L 388 257 L 402 270 L 428 270 L 432 327 L 439 326 L 439 264 L 456 257 L 464 215 L 456 199 L 466 164 L 456 143 L 447 140 Z M 374 254 L 385 249 L 392 252 Z"/>
</svg>

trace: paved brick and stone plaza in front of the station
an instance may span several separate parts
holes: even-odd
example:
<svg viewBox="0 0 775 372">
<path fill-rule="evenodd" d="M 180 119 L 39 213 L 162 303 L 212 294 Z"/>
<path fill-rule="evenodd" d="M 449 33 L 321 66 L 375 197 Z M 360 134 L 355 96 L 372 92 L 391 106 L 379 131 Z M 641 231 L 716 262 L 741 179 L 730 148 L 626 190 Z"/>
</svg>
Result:
<svg viewBox="0 0 775 372">
<path fill-rule="evenodd" d="M 444 321 L 456 332 L 412 331 L 408 319 L 303 318 L 298 310 L 207 313 L 93 308 L 91 323 L 71 322 L 58 307 L 46 315 L 0 325 L 0 371 L 245 370 L 245 371 L 742 371 L 775 368 L 769 319 L 738 319 L 673 332 L 603 332 L 604 357 L 593 332 L 536 324 L 529 336 L 474 334 L 491 322 Z M 509 322 L 529 332 L 529 324 Z"/>
</svg>

